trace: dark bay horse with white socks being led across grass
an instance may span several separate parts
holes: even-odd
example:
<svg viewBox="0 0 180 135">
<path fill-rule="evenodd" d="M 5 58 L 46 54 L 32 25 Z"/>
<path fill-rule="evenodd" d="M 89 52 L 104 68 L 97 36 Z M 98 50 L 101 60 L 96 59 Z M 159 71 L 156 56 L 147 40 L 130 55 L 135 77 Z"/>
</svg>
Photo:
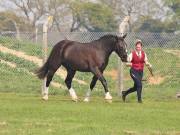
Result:
<svg viewBox="0 0 180 135">
<path fill-rule="evenodd" d="M 124 41 L 125 37 L 126 35 L 123 37 L 105 35 L 89 43 L 79 43 L 70 40 L 62 40 L 57 43 L 53 47 L 46 63 L 36 72 L 40 79 L 47 77 L 43 99 L 48 100 L 49 84 L 54 73 L 62 65 L 67 70 L 65 84 L 70 92 L 72 100 L 77 101 L 76 93 L 71 87 L 72 79 L 76 71 L 91 72 L 94 75 L 90 84 L 90 90 L 88 90 L 84 101 L 89 101 L 90 92 L 93 90 L 97 80 L 100 80 L 104 87 L 105 99 L 111 100 L 112 97 L 108 91 L 103 71 L 113 51 L 118 54 L 123 62 L 127 61 L 127 44 Z"/>
</svg>

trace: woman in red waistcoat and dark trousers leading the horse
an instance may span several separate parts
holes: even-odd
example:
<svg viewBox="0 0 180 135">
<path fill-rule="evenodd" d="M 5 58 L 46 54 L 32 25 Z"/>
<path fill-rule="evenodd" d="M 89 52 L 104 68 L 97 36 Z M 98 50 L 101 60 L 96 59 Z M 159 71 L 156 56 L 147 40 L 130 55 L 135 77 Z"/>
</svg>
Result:
<svg viewBox="0 0 180 135">
<path fill-rule="evenodd" d="M 142 77 L 144 64 L 146 66 L 152 67 L 148 62 L 146 53 L 142 50 L 142 41 L 137 40 L 135 43 L 135 50 L 133 50 L 128 56 L 127 66 L 130 68 L 130 76 L 134 81 L 134 86 L 126 91 L 122 91 L 122 99 L 125 102 L 126 96 L 132 92 L 137 91 L 137 99 L 139 103 L 142 103 Z"/>
</svg>

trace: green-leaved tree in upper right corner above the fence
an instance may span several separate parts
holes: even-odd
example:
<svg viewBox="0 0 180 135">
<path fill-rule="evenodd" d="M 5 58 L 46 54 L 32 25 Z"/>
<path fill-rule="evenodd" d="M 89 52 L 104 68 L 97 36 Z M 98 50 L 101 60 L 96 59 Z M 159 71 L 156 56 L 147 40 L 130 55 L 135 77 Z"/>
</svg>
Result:
<svg viewBox="0 0 180 135">
<path fill-rule="evenodd" d="M 135 23 L 137 26 L 135 31 L 175 32 L 180 30 L 180 1 L 166 0 L 162 5 L 166 7 L 166 10 L 169 9 L 164 20 L 162 18 L 153 18 L 153 16 L 141 17 L 139 20 L 142 23 Z"/>
</svg>

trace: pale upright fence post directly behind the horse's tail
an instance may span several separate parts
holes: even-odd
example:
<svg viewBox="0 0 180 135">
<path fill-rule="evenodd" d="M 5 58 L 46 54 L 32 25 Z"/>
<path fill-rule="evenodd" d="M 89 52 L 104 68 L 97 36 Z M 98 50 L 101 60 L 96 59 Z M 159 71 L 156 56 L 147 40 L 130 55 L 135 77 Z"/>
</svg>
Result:
<svg viewBox="0 0 180 135">
<path fill-rule="evenodd" d="M 43 47 L 42 47 L 42 52 L 43 52 L 43 63 L 46 62 L 47 60 L 47 31 L 48 31 L 48 25 L 47 23 L 43 24 Z M 44 94 L 44 91 L 46 89 L 46 77 L 43 80 L 42 84 L 42 95 Z"/>
</svg>

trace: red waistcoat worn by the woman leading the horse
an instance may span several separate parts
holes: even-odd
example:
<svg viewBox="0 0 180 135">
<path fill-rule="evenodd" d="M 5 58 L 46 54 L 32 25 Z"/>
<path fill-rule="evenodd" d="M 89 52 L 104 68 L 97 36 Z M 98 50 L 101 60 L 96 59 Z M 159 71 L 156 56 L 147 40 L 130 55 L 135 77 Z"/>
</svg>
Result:
<svg viewBox="0 0 180 135">
<path fill-rule="evenodd" d="M 139 57 L 135 51 L 132 51 L 132 60 L 131 60 L 132 68 L 135 70 L 143 71 L 144 63 L 145 63 L 144 59 L 145 59 L 144 51 L 141 51 L 141 57 Z"/>
</svg>

